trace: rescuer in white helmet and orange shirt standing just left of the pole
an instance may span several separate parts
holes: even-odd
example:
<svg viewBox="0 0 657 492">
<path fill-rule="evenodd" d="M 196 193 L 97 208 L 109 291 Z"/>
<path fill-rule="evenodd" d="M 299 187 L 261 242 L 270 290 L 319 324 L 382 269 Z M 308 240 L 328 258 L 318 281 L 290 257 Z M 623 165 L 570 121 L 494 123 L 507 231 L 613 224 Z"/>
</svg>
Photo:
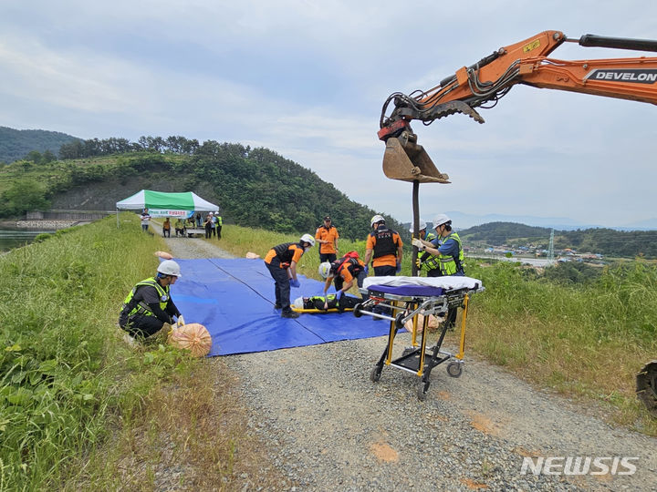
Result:
<svg viewBox="0 0 657 492">
<path fill-rule="evenodd" d="M 375 215 L 370 220 L 372 231 L 365 244 L 365 258 L 367 265 L 372 260 L 375 277 L 395 275 L 401 271 L 401 257 L 403 255 L 403 242 L 396 231 L 388 229 L 385 219 Z"/>
</svg>

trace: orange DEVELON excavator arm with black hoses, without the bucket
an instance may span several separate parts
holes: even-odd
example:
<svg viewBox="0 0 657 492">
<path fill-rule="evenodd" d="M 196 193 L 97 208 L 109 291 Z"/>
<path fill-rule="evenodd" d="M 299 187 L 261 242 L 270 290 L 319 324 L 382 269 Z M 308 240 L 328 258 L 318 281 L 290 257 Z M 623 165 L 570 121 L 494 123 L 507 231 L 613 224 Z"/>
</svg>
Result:
<svg viewBox="0 0 657 492">
<path fill-rule="evenodd" d="M 564 61 L 548 58 L 564 42 L 641 51 L 657 51 L 657 41 L 586 35 L 568 39 L 545 31 L 515 45 L 501 47 L 471 67 L 463 67 L 440 85 L 411 95 L 391 94 L 381 111 L 379 138 L 409 132 L 410 122 L 425 125 L 464 113 L 484 123 L 475 108 L 492 108 L 516 84 L 568 90 L 657 104 L 657 57 Z M 391 114 L 388 108 L 394 104 Z M 412 133 L 412 131 L 410 131 Z"/>
</svg>

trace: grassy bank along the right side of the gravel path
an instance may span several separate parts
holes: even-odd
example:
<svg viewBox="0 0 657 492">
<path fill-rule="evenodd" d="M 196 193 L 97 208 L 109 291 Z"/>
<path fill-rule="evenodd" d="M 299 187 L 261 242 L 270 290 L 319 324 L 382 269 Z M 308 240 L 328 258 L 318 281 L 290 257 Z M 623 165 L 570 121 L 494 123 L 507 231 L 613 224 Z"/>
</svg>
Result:
<svg viewBox="0 0 657 492">
<path fill-rule="evenodd" d="M 223 237 L 220 245 L 238 256 L 245 251 L 263 256 L 278 242 L 298 239 L 233 225 L 224 228 Z M 340 240 L 339 247 L 362 256 L 365 242 Z M 318 264 L 317 251 L 308 251 L 299 272 L 319 279 Z M 467 264 L 468 275 L 486 287 L 472 299 L 467 350 L 540 387 L 601 403 L 610 422 L 657 435 L 657 421 L 634 394 L 636 373 L 657 358 L 654 263 L 624 261 L 595 281 L 570 285 L 527 278 L 512 263 Z M 401 273 L 410 272 L 406 249 Z"/>
</svg>

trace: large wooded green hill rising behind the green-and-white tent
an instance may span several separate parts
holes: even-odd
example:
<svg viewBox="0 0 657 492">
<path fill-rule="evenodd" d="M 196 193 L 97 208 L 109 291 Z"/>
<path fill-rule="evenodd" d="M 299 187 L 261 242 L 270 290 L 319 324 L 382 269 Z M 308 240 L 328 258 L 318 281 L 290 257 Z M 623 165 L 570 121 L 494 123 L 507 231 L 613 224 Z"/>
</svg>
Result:
<svg viewBox="0 0 657 492">
<path fill-rule="evenodd" d="M 21 160 L 0 169 L 0 217 L 38 208 L 114 210 L 117 201 L 142 189 L 187 190 L 218 204 L 227 223 L 314 234 L 330 214 L 342 237 L 362 240 L 372 215 L 381 213 L 349 200 L 310 169 L 269 149 L 141 138 L 139 144 L 128 143 L 140 150 L 112 154 L 107 143 L 73 142 L 62 146 L 60 154 L 77 159 L 38 165 Z M 410 241 L 401 224 L 387 219 Z"/>
</svg>

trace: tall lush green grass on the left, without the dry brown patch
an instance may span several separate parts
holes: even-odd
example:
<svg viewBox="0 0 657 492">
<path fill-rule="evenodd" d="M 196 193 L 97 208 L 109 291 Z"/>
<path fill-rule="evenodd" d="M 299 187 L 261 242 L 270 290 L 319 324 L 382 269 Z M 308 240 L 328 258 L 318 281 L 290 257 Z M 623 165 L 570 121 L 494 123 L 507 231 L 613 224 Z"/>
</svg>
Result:
<svg viewBox="0 0 657 492">
<path fill-rule="evenodd" d="M 117 415 L 139 415 L 152 381 L 184 366 L 171 350 L 147 359 L 118 342 L 122 299 L 152 274 L 160 244 L 131 215 L 119 230 L 110 218 L 0 258 L 0 489 L 68 477 L 72 456 L 103 442 Z"/>
</svg>

